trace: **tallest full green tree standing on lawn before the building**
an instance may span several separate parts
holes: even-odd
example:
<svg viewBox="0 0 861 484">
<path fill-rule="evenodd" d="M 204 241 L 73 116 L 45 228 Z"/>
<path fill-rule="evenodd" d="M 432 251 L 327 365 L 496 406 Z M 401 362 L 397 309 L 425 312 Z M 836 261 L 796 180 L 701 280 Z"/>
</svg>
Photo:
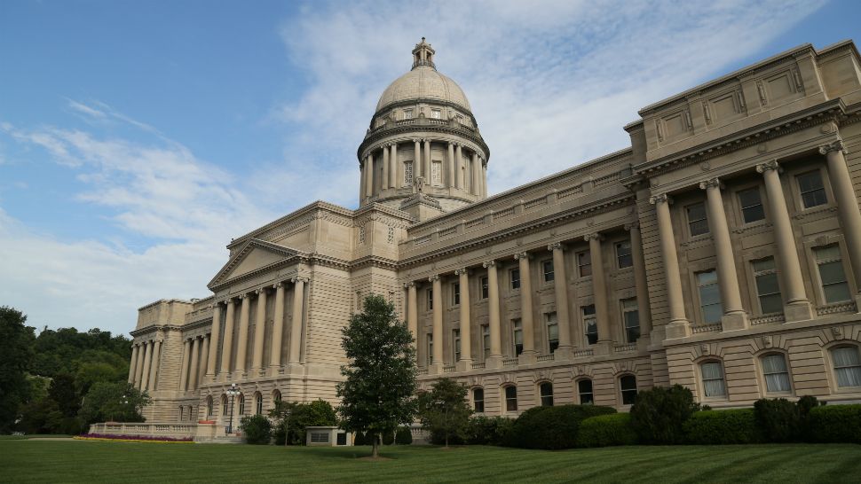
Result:
<svg viewBox="0 0 861 484">
<path fill-rule="evenodd" d="M 346 430 L 371 435 L 371 456 L 378 457 L 378 436 L 415 415 L 413 335 L 391 302 L 375 294 L 365 298 L 364 311 L 350 317 L 342 334 L 351 363 L 341 367 L 346 379 L 337 386 L 338 413 Z"/>
</svg>

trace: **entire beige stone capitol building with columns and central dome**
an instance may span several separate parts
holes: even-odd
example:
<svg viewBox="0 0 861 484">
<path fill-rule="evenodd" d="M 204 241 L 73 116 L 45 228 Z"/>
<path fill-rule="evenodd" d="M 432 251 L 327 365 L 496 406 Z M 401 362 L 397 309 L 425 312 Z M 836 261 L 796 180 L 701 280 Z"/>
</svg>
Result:
<svg viewBox="0 0 861 484">
<path fill-rule="evenodd" d="M 209 297 L 139 309 L 129 381 L 153 398 L 149 431 L 336 405 L 341 328 L 371 293 L 415 335 L 419 386 L 456 379 L 488 416 L 624 411 L 673 384 L 715 409 L 861 400 L 854 43 L 647 105 L 620 127 L 627 148 L 497 194 L 470 101 L 424 39 L 371 114 L 357 209 L 316 201 L 238 234 Z"/>
</svg>

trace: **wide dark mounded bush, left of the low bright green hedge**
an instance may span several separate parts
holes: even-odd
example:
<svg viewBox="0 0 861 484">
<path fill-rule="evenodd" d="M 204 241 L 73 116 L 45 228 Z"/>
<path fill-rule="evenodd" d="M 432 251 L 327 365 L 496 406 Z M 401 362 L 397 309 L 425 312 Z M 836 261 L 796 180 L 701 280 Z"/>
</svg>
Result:
<svg viewBox="0 0 861 484">
<path fill-rule="evenodd" d="M 524 449 L 573 449 L 581 421 L 610 413 L 616 410 L 596 405 L 533 407 L 514 421 L 504 443 Z"/>
</svg>

